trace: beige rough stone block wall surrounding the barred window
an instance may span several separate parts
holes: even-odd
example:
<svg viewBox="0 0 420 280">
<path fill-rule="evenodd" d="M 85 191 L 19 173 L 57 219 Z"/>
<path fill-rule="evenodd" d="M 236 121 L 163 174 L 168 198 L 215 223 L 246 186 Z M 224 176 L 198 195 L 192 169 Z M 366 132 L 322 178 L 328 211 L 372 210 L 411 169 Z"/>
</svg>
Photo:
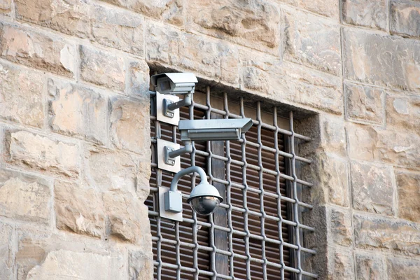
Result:
<svg viewBox="0 0 420 280">
<path fill-rule="evenodd" d="M 419 40 L 410 0 L 0 0 L 0 279 L 153 279 L 149 66 L 311 111 L 309 265 L 419 278 Z"/>
</svg>

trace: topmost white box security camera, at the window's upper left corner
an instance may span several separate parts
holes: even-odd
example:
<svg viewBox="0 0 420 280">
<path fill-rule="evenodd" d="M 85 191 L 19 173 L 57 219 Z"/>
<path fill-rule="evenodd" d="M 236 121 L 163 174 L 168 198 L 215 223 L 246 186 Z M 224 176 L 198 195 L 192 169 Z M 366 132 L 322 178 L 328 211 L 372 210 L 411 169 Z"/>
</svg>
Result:
<svg viewBox="0 0 420 280">
<path fill-rule="evenodd" d="M 152 85 L 161 94 L 193 93 L 197 78 L 193 73 L 161 73 L 151 77 Z"/>
</svg>

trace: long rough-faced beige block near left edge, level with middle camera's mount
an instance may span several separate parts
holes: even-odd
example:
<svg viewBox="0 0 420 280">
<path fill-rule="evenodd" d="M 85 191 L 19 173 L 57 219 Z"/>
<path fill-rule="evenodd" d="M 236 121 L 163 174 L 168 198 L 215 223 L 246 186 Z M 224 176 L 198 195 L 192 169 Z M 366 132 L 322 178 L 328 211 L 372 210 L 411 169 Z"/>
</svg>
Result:
<svg viewBox="0 0 420 280">
<path fill-rule="evenodd" d="M 25 131 L 9 132 L 7 141 L 11 165 L 69 177 L 80 172 L 80 153 L 74 144 Z"/>
</svg>

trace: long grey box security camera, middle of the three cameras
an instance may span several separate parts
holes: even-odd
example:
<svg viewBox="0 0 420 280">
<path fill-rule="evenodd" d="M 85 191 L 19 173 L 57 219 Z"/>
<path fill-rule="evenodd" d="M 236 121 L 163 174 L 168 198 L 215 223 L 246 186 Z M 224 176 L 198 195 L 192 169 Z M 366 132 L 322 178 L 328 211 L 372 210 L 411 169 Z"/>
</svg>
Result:
<svg viewBox="0 0 420 280">
<path fill-rule="evenodd" d="M 180 120 L 178 129 L 182 141 L 239 140 L 252 125 L 251 118 Z"/>
</svg>

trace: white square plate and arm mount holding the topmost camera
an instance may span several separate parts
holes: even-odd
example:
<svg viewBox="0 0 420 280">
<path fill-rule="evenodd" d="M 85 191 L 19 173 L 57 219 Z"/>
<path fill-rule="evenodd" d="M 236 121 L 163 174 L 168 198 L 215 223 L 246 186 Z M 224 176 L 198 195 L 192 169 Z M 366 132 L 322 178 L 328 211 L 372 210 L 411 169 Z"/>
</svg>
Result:
<svg viewBox="0 0 420 280">
<path fill-rule="evenodd" d="M 158 121 L 169 123 L 169 125 L 178 125 L 179 110 L 174 110 L 172 106 L 179 102 L 179 97 L 175 95 L 156 92 L 156 118 Z"/>
</svg>

